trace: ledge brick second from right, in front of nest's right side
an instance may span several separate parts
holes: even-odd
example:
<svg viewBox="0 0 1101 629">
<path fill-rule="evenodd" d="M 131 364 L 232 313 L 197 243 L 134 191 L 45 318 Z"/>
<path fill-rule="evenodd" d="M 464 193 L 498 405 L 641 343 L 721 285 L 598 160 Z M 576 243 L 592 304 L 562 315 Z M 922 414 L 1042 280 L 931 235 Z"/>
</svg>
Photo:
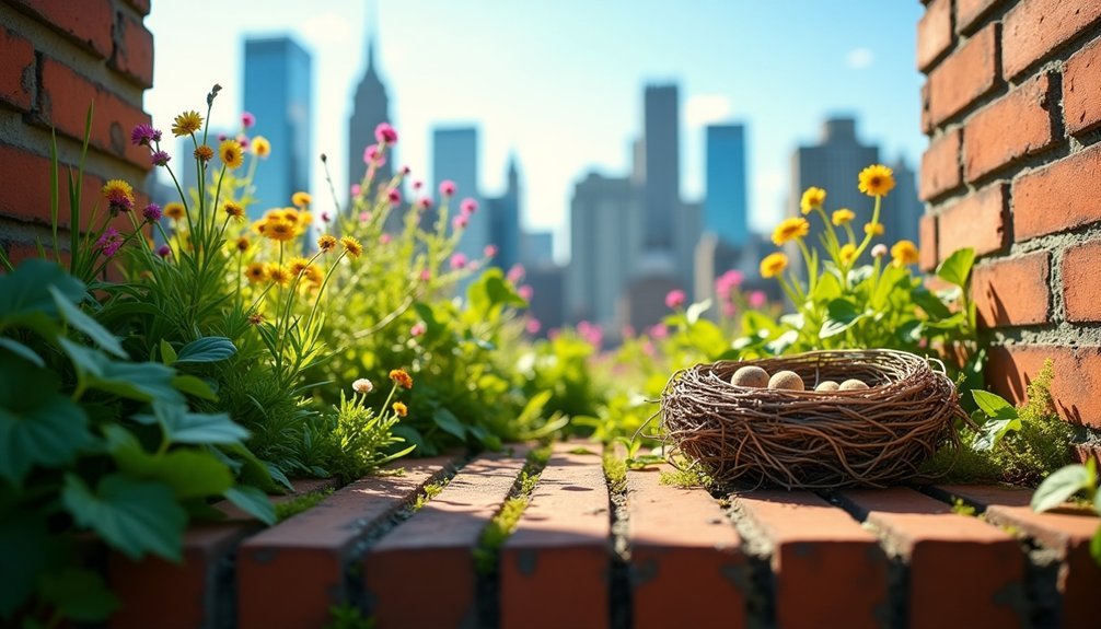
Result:
<svg viewBox="0 0 1101 629">
<path fill-rule="evenodd" d="M 1005 532 L 904 487 L 844 492 L 908 565 L 907 627 L 1023 627 L 1025 556 Z M 960 565 L 968 578 L 957 578 Z M 1015 596 L 1013 595 L 1015 594 Z"/>
</svg>

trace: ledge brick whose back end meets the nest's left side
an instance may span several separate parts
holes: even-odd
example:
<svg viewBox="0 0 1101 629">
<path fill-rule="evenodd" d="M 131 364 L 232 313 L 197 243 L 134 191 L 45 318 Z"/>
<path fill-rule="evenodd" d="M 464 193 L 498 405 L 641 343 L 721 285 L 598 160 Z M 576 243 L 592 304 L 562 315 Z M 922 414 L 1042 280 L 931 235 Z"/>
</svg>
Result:
<svg viewBox="0 0 1101 629">
<path fill-rule="evenodd" d="M 733 526 L 704 489 L 658 478 L 654 468 L 628 473 L 635 629 L 744 627 L 735 581 L 746 566 Z"/>
</svg>

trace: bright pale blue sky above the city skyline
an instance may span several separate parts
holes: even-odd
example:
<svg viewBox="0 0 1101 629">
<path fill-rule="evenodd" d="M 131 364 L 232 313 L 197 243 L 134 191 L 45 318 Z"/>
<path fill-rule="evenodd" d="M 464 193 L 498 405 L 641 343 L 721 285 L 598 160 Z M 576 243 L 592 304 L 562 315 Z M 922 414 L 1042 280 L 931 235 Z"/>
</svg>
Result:
<svg viewBox="0 0 1101 629">
<path fill-rule="evenodd" d="M 232 10 L 229 10 L 232 5 Z M 568 233 L 573 185 L 590 169 L 630 167 L 647 82 L 680 88 L 682 194 L 701 198 L 702 128 L 748 125 L 751 228 L 778 220 L 788 164 L 826 117 L 851 114 L 889 161 L 916 166 L 919 129 L 914 51 L 917 0 L 211 0 L 153 2 L 156 125 L 205 109 L 231 125 L 242 107 L 243 42 L 291 34 L 314 58 L 314 153 L 336 157 L 342 189 L 351 98 L 366 67 L 367 12 L 377 15 L 378 65 L 401 134 L 397 162 L 430 174 L 434 125 L 476 123 L 482 194 L 520 161 L 523 222 Z M 279 150 L 275 147 L 275 150 Z M 855 185 L 855 174 L 853 174 Z M 318 167 L 315 199 L 328 197 Z M 461 194 L 461 191 L 460 191 Z M 323 209 L 324 206 L 319 206 Z M 560 238 L 557 240 L 562 240 Z M 557 251 L 567 250 L 564 242 Z"/>
</svg>

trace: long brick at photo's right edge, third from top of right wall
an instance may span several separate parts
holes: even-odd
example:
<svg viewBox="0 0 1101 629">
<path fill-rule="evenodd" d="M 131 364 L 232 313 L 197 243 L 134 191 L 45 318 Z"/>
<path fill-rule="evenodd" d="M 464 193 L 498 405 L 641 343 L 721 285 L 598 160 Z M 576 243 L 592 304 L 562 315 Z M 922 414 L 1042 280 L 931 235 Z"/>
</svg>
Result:
<svg viewBox="0 0 1101 629">
<path fill-rule="evenodd" d="M 1101 220 L 1101 145 L 1094 145 L 1013 181 L 1017 242 Z"/>
</svg>

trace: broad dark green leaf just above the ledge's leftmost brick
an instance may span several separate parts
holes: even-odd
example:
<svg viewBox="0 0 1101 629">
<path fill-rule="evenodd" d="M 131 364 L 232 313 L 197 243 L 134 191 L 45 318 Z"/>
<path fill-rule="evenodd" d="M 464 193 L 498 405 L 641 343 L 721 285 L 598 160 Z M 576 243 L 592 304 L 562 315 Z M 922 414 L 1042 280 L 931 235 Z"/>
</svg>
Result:
<svg viewBox="0 0 1101 629">
<path fill-rule="evenodd" d="M 181 560 L 187 512 L 161 483 L 110 474 L 92 493 L 79 476 L 66 474 L 62 504 L 78 525 L 96 531 L 130 559 L 152 553 Z"/>
</svg>

